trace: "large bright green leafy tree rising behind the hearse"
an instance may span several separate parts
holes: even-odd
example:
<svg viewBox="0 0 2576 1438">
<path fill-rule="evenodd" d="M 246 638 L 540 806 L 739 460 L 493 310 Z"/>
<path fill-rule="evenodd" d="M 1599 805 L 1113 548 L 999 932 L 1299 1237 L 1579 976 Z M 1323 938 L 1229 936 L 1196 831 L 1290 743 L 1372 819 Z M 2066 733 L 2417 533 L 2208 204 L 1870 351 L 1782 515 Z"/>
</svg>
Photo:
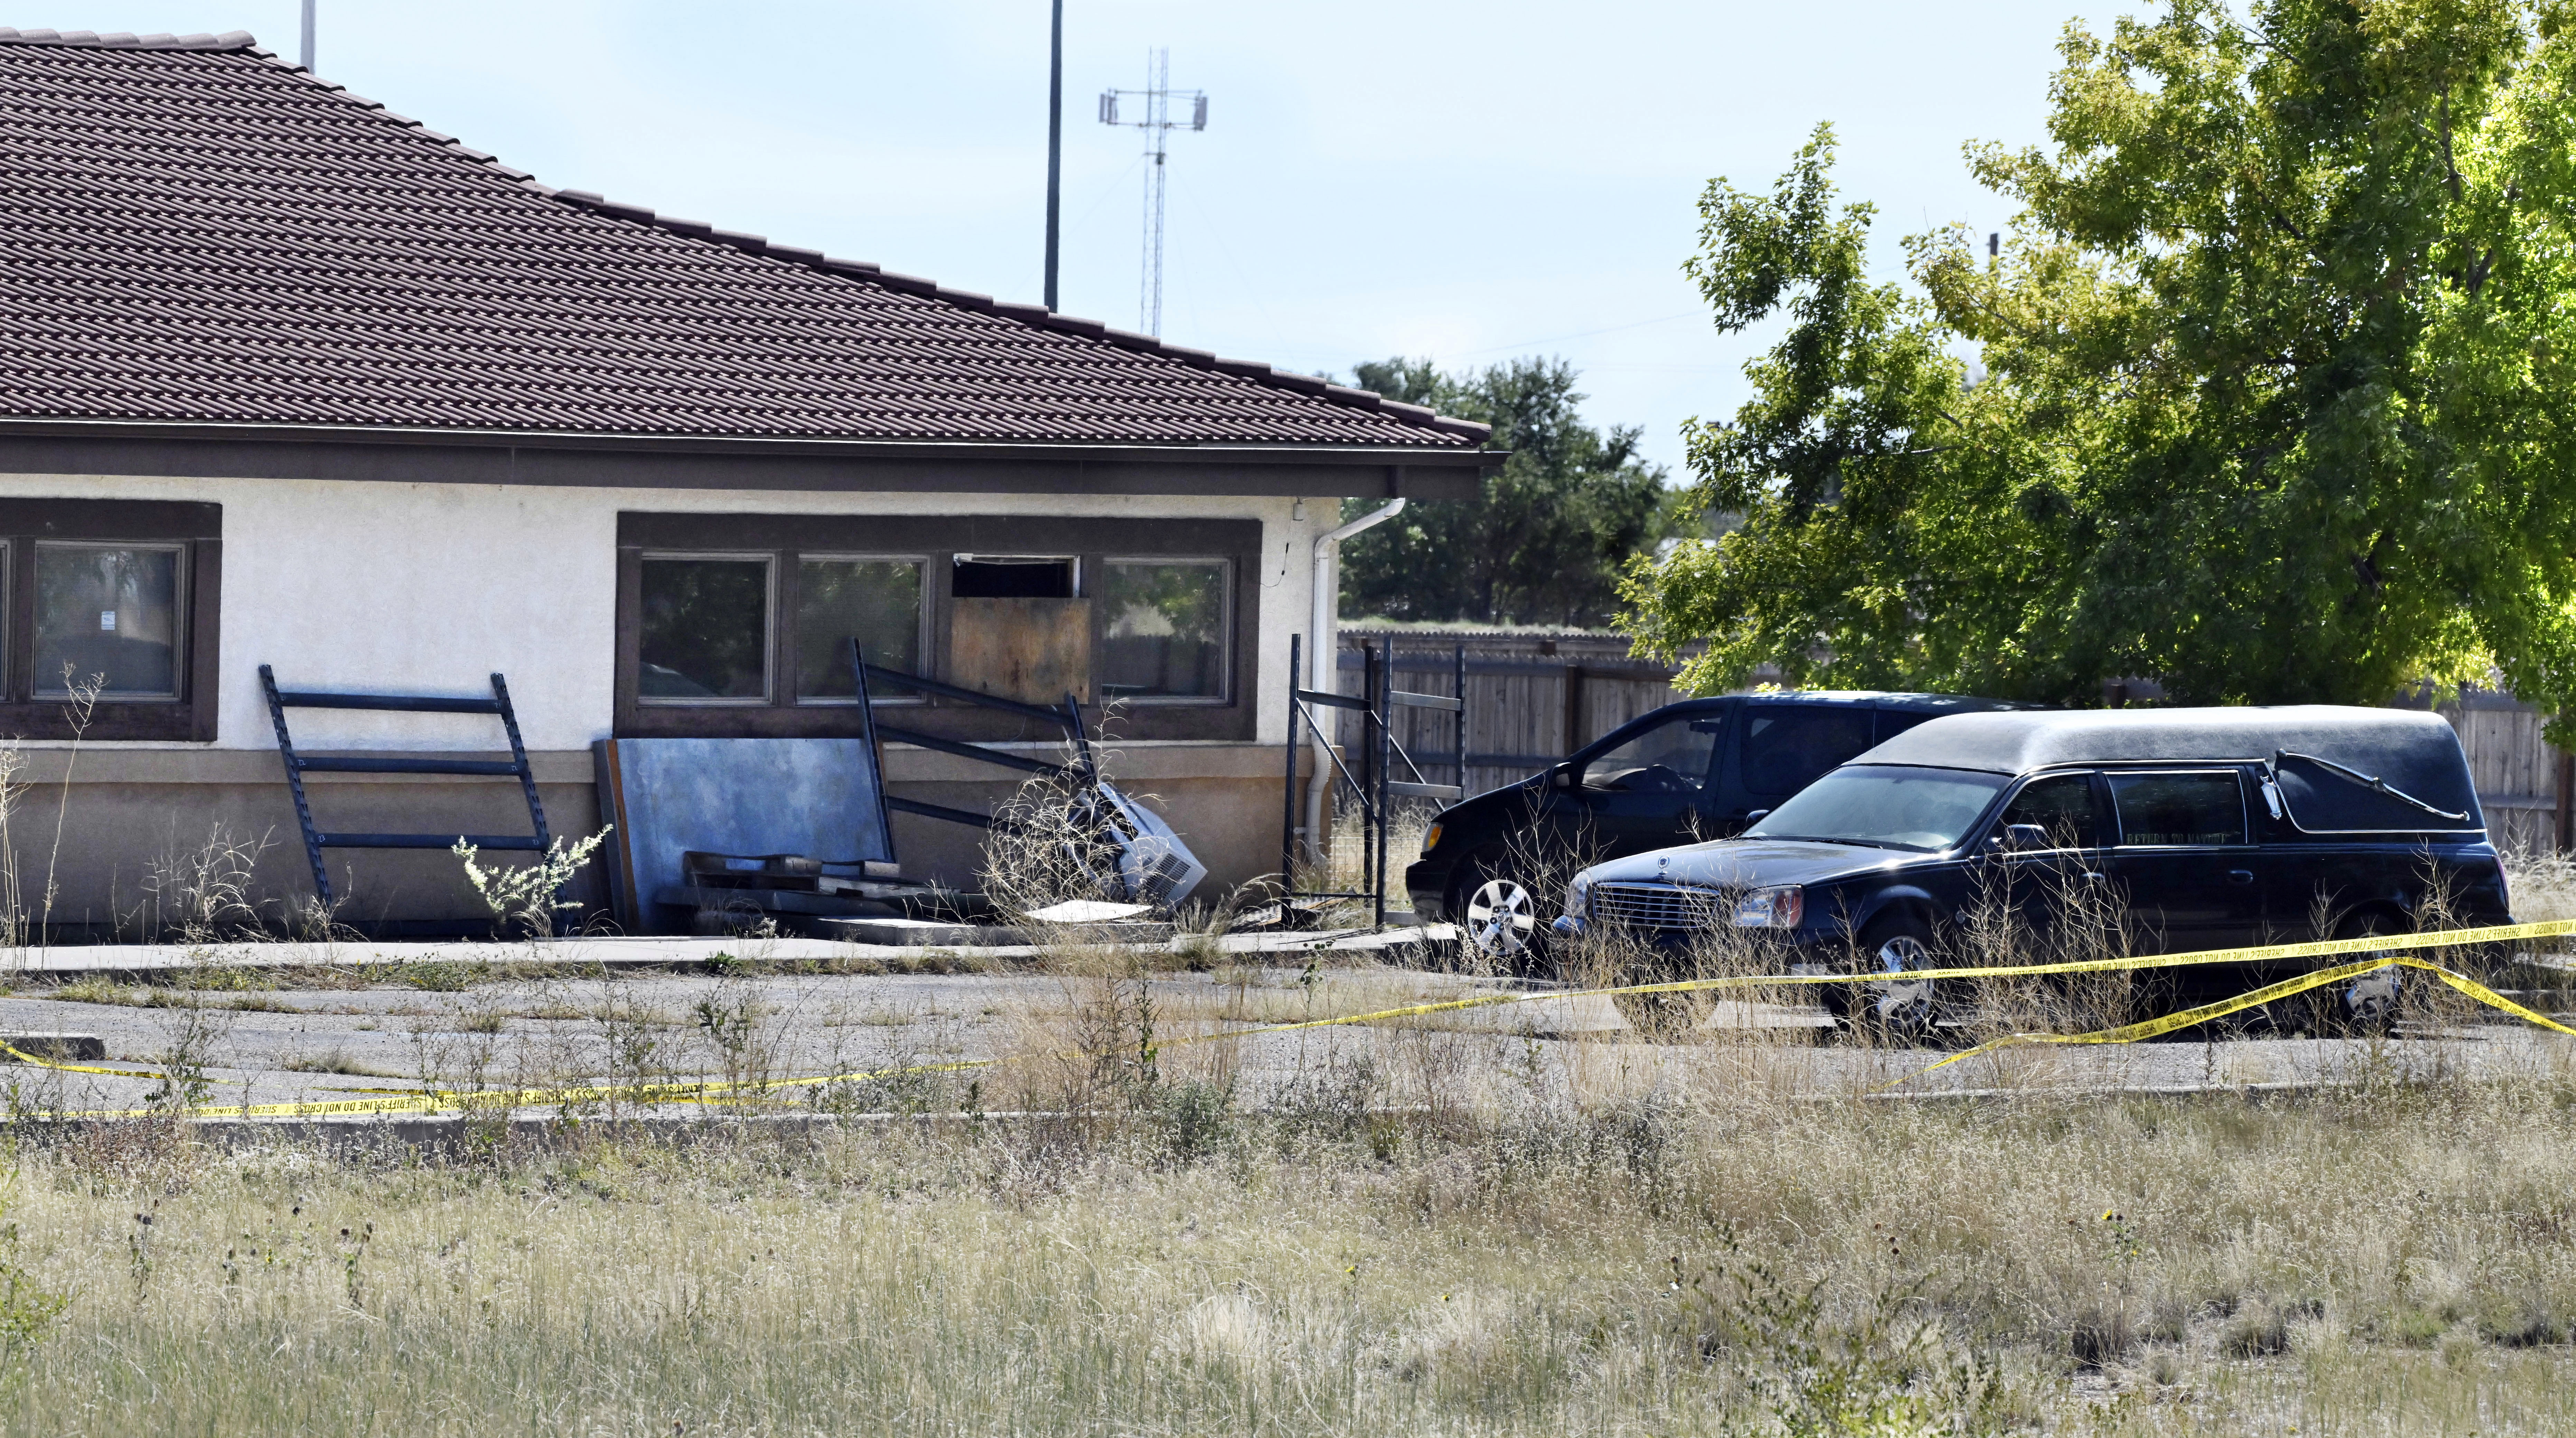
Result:
<svg viewBox="0 0 2576 1438">
<path fill-rule="evenodd" d="M 1690 273 L 1741 330 L 1692 497 L 1741 515 L 1631 572 L 1703 688 L 2385 701 L 2501 670 L 2576 698 L 2576 36 L 2558 0 L 2172 0 L 2069 28 L 2020 201 L 1868 283 L 1819 129 L 1710 183 Z M 1958 358 L 1984 361 L 1981 381 Z M 2561 742 L 2576 737 L 2553 734 Z"/>
</svg>

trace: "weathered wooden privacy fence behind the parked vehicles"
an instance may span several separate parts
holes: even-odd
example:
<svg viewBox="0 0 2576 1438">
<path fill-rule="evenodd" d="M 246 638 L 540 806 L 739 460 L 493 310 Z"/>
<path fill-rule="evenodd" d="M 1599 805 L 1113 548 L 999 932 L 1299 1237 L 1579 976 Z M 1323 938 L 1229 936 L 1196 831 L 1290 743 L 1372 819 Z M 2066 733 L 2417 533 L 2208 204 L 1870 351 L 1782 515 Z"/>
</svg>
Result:
<svg viewBox="0 0 2576 1438">
<path fill-rule="evenodd" d="M 1443 629 L 1342 629 L 1334 665 L 1340 693 L 1358 696 L 1363 688 L 1363 644 L 1376 644 L 1381 655 L 1394 649 L 1396 688 L 1443 696 L 1458 693 L 1458 649 L 1466 649 L 1466 778 L 1455 778 L 1455 729 L 1448 714 L 1399 711 L 1396 742 L 1422 765 L 1425 778 L 1463 783 L 1468 794 L 1528 778 L 1628 719 L 1687 698 L 1672 688 L 1669 667 L 1631 657 L 1620 634 Z M 2424 701 L 2406 706 L 2421 709 Z M 2478 783 L 2496 848 L 2571 848 L 2576 773 L 2563 750 L 2540 740 L 2548 716 L 2509 693 L 2481 688 L 2439 706 L 2439 714 L 2468 750 L 2468 773 Z M 1345 716 L 1342 724 L 1337 742 L 1352 745 L 1358 722 Z"/>
</svg>

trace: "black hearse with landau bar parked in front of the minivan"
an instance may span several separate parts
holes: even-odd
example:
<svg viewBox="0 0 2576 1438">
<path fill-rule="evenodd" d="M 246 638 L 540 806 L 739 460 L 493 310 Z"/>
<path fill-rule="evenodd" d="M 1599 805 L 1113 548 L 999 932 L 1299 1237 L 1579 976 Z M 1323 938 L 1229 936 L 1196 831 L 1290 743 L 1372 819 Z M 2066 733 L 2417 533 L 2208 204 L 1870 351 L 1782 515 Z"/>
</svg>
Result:
<svg viewBox="0 0 2576 1438">
<path fill-rule="evenodd" d="M 2050 905 L 2087 887 L 2110 889 L 2138 954 L 2403 930 L 2434 889 L 2458 923 L 2512 923 L 2450 724 L 2285 706 L 1935 719 L 1736 840 L 1587 868 L 1558 928 L 1687 943 L 1736 925 L 1788 959 L 1896 974 L 1937 966 L 1994 894 L 2045 933 L 2063 915 Z M 2172 969 L 2156 995 L 2231 995 L 2308 966 Z M 1929 990 L 1870 984 L 1837 1008 L 1919 1031 L 1937 1015 Z M 2342 992 L 2362 1021 L 2393 1000 L 2396 969 Z"/>
</svg>

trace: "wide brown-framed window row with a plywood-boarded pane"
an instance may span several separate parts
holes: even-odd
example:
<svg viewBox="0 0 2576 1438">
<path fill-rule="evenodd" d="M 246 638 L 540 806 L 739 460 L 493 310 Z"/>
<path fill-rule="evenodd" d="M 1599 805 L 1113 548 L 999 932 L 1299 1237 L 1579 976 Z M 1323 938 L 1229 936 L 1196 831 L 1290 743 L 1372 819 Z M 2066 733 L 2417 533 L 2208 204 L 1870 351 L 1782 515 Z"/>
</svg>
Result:
<svg viewBox="0 0 2576 1438">
<path fill-rule="evenodd" d="M 873 665 L 987 693 L 1126 701 L 1123 740 L 1247 742 L 1262 564 L 1249 518 L 621 513 L 611 724 L 855 734 L 855 639 Z M 1041 719 L 884 675 L 868 698 L 951 740 L 1048 740 Z"/>
</svg>

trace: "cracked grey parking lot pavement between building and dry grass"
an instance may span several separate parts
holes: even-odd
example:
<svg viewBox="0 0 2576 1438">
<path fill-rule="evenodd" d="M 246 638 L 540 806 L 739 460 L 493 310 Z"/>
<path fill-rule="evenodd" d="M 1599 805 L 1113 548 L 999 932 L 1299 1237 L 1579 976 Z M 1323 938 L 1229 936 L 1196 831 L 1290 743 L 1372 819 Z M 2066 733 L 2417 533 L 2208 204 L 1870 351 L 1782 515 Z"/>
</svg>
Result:
<svg viewBox="0 0 2576 1438">
<path fill-rule="evenodd" d="M 1347 959 L 1347 956 L 1345 956 Z M 1574 1093 L 1929 1095 L 2094 1090 L 2269 1090 L 2434 1075 L 2550 1077 L 2576 1062 L 2568 1039 L 2476 1026 L 2398 1039 L 2161 1041 L 2017 1046 L 1935 1072 L 1942 1051 L 1826 1041 L 1816 1010 L 1721 1005 L 1687 1044 L 1646 1044 L 1600 995 L 1522 995 L 1507 1005 L 1378 1026 L 1229 1036 L 1265 1023 L 1373 1013 L 1412 1002 L 1507 995 L 1504 984 L 1378 964 L 1283 961 L 1162 974 L 1110 987 L 1025 972 L 992 974 L 703 974 L 505 977 L 461 990 L 381 979 L 368 987 L 144 990 L 72 987 L 0 997 L 0 1031 L 95 1033 L 111 1077 L 0 1067 L 0 1095 L 23 1108 L 124 1111 L 178 1088 L 214 1106 L 330 1103 L 404 1093 L 518 1090 L 613 1080 L 871 1075 L 922 1064 L 1012 1059 L 984 1069 L 979 1103 L 1020 1103 L 1051 1054 L 1097 1033 L 1103 1015 L 1149 1015 L 1172 1077 L 1234 1085 L 1270 1103 L 1334 1064 L 1365 1059 L 1383 1098 L 1422 1098 L 1440 1075 L 1492 1088 Z M 113 995 L 116 1002 L 103 1002 Z M 1144 1002 L 1139 1002 L 1144 1000 Z M 1095 1039 L 1097 1041 L 1097 1039 Z M 1133 1039 L 1126 1039 L 1133 1044 Z M 824 1090 L 796 1090 L 804 1103 Z M 866 1106 L 881 1090 L 835 1090 Z M 1455 1098 L 1476 1098 L 1461 1093 Z"/>
</svg>

